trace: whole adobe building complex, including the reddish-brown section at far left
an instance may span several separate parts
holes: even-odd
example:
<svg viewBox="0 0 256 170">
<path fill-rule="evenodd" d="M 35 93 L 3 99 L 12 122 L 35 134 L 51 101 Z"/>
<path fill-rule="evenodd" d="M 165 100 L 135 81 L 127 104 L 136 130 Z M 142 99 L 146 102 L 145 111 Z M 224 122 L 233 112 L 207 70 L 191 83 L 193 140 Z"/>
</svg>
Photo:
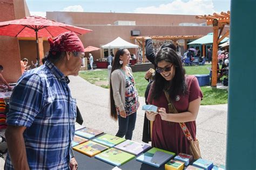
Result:
<svg viewBox="0 0 256 170">
<path fill-rule="evenodd" d="M 0 22 L 30 16 L 25 0 L 0 0 L 0 8 L 2 9 L 0 11 Z M 194 15 L 46 12 L 46 18 L 93 30 L 83 36 L 79 36 L 84 47 L 100 47 L 117 37 L 137 44 L 136 40 L 131 37 L 131 31 L 134 31 L 133 33 L 139 31 L 135 36 L 197 36 L 212 32 L 211 26 L 205 26 L 203 23 L 204 20 L 196 19 Z M 43 38 L 42 40 L 43 53 L 45 54 L 49 51 L 49 44 L 47 38 Z M 36 62 L 35 38 L 0 36 L 0 49 L 0 65 L 4 67 L 3 75 L 8 82 L 17 82 L 21 76 L 21 59 L 28 58 L 29 65 L 31 61 Z M 138 54 L 138 50 L 140 49 L 129 50 L 131 53 Z M 108 49 L 100 49 L 91 53 L 94 60 L 97 60 L 107 56 Z M 88 56 L 88 53 L 85 55 Z"/>
</svg>

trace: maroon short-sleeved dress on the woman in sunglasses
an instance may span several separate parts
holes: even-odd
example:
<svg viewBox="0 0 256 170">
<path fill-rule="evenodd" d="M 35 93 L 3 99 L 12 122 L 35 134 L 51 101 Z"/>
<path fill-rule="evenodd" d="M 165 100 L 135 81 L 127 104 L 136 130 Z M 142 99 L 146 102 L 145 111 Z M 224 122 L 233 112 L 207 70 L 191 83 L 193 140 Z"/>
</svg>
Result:
<svg viewBox="0 0 256 170">
<path fill-rule="evenodd" d="M 188 109 L 188 104 L 197 98 L 203 98 L 203 94 L 199 87 L 197 77 L 186 76 L 187 95 L 179 96 L 178 101 L 172 101 L 178 112 L 185 112 Z M 151 101 L 151 91 L 147 102 Z M 150 103 L 150 102 L 149 102 Z M 157 100 L 152 100 L 150 104 L 156 105 L 159 108 L 165 108 L 168 113 L 168 102 L 164 91 Z M 191 133 L 192 138 L 196 139 L 196 121 L 185 123 Z M 152 147 L 161 148 L 166 151 L 171 151 L 176 154 L 189 154 L 190 144 L 180 128 L 179 123 L 163 121 L 160 115 L 156 115 L 156 120 L 153 121 L 152 127 Z"/>
</svg>

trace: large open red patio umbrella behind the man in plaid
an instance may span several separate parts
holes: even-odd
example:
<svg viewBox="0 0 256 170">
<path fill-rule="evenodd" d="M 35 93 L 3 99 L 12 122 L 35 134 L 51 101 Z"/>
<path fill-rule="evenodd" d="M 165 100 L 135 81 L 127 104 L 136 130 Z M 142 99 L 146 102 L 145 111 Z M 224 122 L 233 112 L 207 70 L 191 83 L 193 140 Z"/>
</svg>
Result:
<svg viewBox="0 0 256 170">
<path fill-rule="evenodd" d="M 58 23 L 44 17 L 30 16 L 22 19 L 0 22 L 0 36 L 36 37 L 37 62 L 39 63 L 38 37 L 56 37 L 60 33 L 73 31 L 82 35 L 92 30 Z"/>
</svg>

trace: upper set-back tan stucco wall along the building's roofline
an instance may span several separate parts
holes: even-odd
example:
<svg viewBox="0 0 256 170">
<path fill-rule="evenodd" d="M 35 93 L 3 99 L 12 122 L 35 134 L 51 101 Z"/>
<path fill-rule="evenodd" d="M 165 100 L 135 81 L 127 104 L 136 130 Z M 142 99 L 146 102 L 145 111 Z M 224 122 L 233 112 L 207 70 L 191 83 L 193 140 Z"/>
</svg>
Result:
<svg viewBox="0 0 256 170">
<path fill-rule="evenodd" d="M 160 15 L 144 13 L 46 12 L 48 19 L 72 25 L 113 25 L 118 20 L 136 21 L 136 25 L 179 25 L 204 23 L 194 15 Z"/>
</svg>

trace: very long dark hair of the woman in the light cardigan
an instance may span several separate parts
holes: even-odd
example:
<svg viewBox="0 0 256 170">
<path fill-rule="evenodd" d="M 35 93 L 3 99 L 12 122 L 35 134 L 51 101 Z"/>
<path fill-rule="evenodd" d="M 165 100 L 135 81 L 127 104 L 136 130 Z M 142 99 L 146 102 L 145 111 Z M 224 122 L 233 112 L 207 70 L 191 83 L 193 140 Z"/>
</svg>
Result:
<svg viewBox="0 0 256 170">
<path fill-rule="evenodd" d="M 112 65 L 111 73 L 116 70 L 120 69 L 122 65 L 120 65 L 120 56 L 124 55 L 126 48 L 118 49 L 116 55 L 114 55 L 114 62 Z M 110 116 L 115 121 L 117 120 L 117 110 L 116 105 L 114 105 L 114 97 L 113 97 L 113 89 L 112 89 L 112 82 L 111 82 L 111 73 L 110 73 Z"/>
</svg>

